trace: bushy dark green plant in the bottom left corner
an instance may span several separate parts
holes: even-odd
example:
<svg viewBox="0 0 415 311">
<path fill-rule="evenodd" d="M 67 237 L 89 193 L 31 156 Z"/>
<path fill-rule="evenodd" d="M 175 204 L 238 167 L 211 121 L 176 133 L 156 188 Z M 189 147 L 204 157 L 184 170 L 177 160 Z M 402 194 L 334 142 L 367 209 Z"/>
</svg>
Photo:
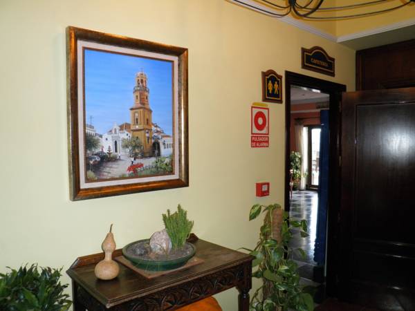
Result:
<svg viewBox="0 0 415 311">
<path fill-rule="evenodd" d="M 10 269 L 0 274 L 0 310 L 65 311 L 71 306 L 68 287 L 59 282 L 62 269 L 38 267 L 36 264 Z"/>
</svg>

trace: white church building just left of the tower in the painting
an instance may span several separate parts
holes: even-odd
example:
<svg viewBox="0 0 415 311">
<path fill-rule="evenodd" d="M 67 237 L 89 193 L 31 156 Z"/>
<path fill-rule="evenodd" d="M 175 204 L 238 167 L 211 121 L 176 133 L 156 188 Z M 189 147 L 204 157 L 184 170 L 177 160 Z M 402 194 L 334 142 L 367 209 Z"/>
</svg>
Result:
<svg viewBox="0 0 415 311">
<path fill-rule="evenodd" d="M 114 123 L 112 129 L 102 135 L 102 151 L 129 156 L 128 149 L 122 148 L 122 140 L 131 138 L 131 124 L 123 123 L 118 126 Z"/>
</svg>

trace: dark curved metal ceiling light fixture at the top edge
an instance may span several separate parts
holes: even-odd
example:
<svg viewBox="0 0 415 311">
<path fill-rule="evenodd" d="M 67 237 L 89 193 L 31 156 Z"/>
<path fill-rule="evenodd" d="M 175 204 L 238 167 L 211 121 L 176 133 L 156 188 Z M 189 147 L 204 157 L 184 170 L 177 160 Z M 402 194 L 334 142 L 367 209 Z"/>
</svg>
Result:
<svg viewBox="0 0 415 311">
<path fill-rule="evenodd" d="M 243 0 L 232 0 L 243 6 L 248 6 L 251 8 L 255 8 L 255 10 L 260 10 L 268 15 L 272 15 L 274 17 L 285 17 L 290 13 L 297 17 L 301 17 L 304 19 L 353 19 L 356 17 L 365 17 L 369 15 L 375 15 L 378 13 L 389 12 L 392 10 L 396 10 L 398 8 L 402 8 L 403 6 L 407 6 L 409 3 L 415 3 L 415 0 L 373 0 L 373 1 L 366 1 L 360 2 L 355 4 L 350 4 L 348 6 L 331 6 L 331 7 L 323 7 L 322 4 L 324 0 L 255 0 L 257 3 L 263 3 L 264 5 L 277 10 L 277 12 L 273 12 L 271 10 L 267 10 L 266 8 L 257 8 L 256 6 L 250 5 L 247 1 Z M 353 10 L 358 8 L 363 8 L 365 6 L 376 6 L 382 3 L 394 3 L 394 6 L 390 8 L 382 8 L 376 10 L 369 10 L 369 12 L 364 13 L 357 13 L 357 14 L 344 14 L 339 16 L 311 16 L 313 13 L 316 12 L 332 12 L 332 11 L 347 11 Z"/>
</svg>

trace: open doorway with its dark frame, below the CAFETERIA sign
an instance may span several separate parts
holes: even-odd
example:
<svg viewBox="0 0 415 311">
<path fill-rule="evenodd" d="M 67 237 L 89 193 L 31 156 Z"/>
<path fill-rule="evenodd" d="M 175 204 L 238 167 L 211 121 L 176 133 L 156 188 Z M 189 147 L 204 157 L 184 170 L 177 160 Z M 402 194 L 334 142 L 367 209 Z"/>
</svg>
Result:
<svg viewBox="0 0 415 311">
<path fill-rule="evenodd" d="M 338 206 L 340 188 L 340 99 L 346 86 L 286 71 L 286 186 L 285 209 L 293 218 L 306 218 L 310 236 L 293 238 L 294 247 L 306 248 L 300 276 L 317 281 L 317 300 L 336 296 Z M 299 97 L 296 97 L 299 95 Z M 324 113 L 322 113 L 324 111 Z M 310 114 L 311 113 L 311 114 Z M 324 117 L 324 121 L 323 121 Z M 295 135 L 297 133 L 297 135 Z M 301 133 L 301 135 L 299 134 Z M 323 144 L 322 140 L 326 143 Z M 295 147 L 294 147 L 295 146 Z M 302 147 L 300 147 L 302 146 Z M 299 150 L 298 150 L 299 149 Z M 292 151 L 299 153 L 297 190 L 293 180 Z M 324 159 L 322 158 L 324 153 Z M 325 171 L 323 171 L 325 169 Z M 325 185 L 325 187 L 322 187 Z M 294 235 L 295 236 L 295 235 Z M 301 244 L 300 244 L 301 243 Z M 317 297 L 315 297 L 317 298 Z"/>
</svg>

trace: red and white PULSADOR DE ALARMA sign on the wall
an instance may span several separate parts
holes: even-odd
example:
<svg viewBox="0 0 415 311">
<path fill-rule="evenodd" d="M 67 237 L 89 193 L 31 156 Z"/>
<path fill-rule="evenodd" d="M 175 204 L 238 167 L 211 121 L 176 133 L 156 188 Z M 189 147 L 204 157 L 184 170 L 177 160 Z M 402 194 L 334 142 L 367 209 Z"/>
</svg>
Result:
<svg viewBox="0 0 415 311">
<path fill-rule="evenodd" d="M 266 104 L 251 106 L 251 147 L 269 147 L 269 109 Z"/>
</svg>

